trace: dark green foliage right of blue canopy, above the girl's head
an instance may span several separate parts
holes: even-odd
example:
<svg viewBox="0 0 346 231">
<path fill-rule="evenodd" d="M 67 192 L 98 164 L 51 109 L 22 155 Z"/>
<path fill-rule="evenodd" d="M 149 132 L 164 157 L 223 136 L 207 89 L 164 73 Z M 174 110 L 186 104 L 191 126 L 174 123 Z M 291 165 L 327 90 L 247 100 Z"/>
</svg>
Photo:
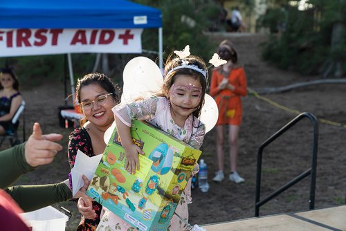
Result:
<svg viewBox="0 0 346 231">
<path fill-rule="evenodd" d="M 163 21 L 163 50 L 165 57 L 172 50 L 182 50 L 190 45 L 190 52 L 199 55 L 204 60 L 209 60 L 215 52 L 217 44 L 203 35 L 212 26 L 212 20 L 217 19 L 219 8 L 212 0 L 162 0 L 149 1 L 137 0 L 147 6 L 158 8 L 162 12 Z M 143 31 L 143 47 L 149 50 L 157 50 L 157 33 Z"/>
</svg>

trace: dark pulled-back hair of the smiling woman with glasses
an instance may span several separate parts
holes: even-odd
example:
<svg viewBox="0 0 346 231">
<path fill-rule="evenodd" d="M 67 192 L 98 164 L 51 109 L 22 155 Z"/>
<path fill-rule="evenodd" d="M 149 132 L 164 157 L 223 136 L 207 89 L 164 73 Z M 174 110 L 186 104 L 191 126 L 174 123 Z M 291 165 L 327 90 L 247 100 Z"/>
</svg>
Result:
<svg viewBox="0 0 346 231">
<path fill-rule="evenodd" d="M 113 93 L 111 97 L 116 101 L 116 104 L 120 101 L 120 88 L 118 85 L 114 84 L 107 75 L 102 73 L 90 73 L 84 75 L 77 81 L 77 86 L 75 87 L 75 98 L 78 102 L 80 102 L 80 90 L 84 86 L 89 86 L 90 84 L 98 84 L 102 89 L 106 90 L 107 93 Z M 86 118 L 82 118 L 80 120 L 80 126 L 82 127 L 86 121 Z"/>
</svg>

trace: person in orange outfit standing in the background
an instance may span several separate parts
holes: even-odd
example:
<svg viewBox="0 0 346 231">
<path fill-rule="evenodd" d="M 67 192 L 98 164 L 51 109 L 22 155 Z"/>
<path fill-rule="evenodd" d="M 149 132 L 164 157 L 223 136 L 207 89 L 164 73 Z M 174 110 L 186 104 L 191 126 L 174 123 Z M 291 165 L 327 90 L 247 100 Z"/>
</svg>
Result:
<svg viewBox="0 0 346 231">
<path fill-rule="evenodd" d="M 230 145 L 230 175 L 229 180 L 235 183 L 243 183 L 245 180 L 237 173 L 238 136 L 242 123 L 242 100 L 245 96 L 246 76 L 244 68 L 237 64 L 237 52 L 233 44 L 224 40 L 219 44 L 218 50 L 221 59 L 226 64 L 212 71 L 210 95 L 215 98 L 219 108 L 219 118 L 216 124 L 217 131 L 217 164 L 219 171 L 212 179 L 216 182 L 224 180 L 224 130 L 228 127 L 228 142 Z"/>
</svg>

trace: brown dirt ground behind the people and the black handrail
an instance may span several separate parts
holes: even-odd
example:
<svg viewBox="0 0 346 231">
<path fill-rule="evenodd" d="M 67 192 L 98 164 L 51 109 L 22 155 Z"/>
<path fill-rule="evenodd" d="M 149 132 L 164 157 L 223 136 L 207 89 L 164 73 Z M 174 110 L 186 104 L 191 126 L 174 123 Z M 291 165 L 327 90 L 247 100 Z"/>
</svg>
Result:
<svg viewBox="0 0 346 231">
<path fill-rule="evenodd" d="M 231 39 L 237 48 L 239 59 L 244 64 L 248 87 L 286 86 L 295 82 L 316 80 L 320 77 L 301 76 L 297 73 L 280 71 L 260 59 L 258 44 L 266 38 L 264 35 L 213 35 L 219 41 L 222 37 Z M 44 80 L 43 80 L 44 81 Z M 39 167 L 35 172 L 26 174 L 18 183 L 36 184 L 59 182 L 66 178 L 69 165 L 66 147 L 72 128 L 59 126 L 57 108 L 64 104 L 62 82 L 44 82 L 35 89 L 22 91 L 27 102 L 26 138 L 32 130 L 33 122 L 40 122 L 44 133 L 63 133 L 62 145 L 65 149 L 57 155 L 52 165 Z M 208 164 L 210 190 L 203 194 L 198 189 L 192 191 L 193 203 L 189 207 L 190 223 L 206 224 L 253 217 L 255 214 L 255 180 L 257 151 L 262 142 L 291 121 L 296 113 L 309 112 L 318 118 L 318 167 L 316 178 L 315 207 L 331 207 L 345 203 L 346 194 L 346 101 L 345 84 L 320 84 L 305 86 L 284 93 L 262 95 L 273 102 L 269 103 L 255 95 L 243 98 L 244 119 L 239 133 L 238 172 L 246 179 L 242 185 L 236 185 L 226 179 L 222 183 L 212 182 L 217 170 L 215 149 L 215 131 L 206 135 L 203 142 L 203 156 Z M 276 104 L 275 104 L 275 103 Z M 320 119 L 338 122 L 336 126 L 321 122 Z M 271 194 L 278 187 L 298 176 L 311 166 L 313 129 L 309 119 L 304 118 L 275 142 L 264 149 L 262 160 L 261 198 Z M 5 146 L 1 147 L 3 149 Z M 225 146 L 228 151 L 228 146 Z M 226 155 L 226 175 L 229 172 Z M 275 197 L 260 208 L 260 215 L 277 214 L 309 210 L 310 176 L 294 185 L 286 192 Z M 66 230 L 75 230 L 79 215 L 75 204 L 60 203 L 73 213 Z"/>
</svg>

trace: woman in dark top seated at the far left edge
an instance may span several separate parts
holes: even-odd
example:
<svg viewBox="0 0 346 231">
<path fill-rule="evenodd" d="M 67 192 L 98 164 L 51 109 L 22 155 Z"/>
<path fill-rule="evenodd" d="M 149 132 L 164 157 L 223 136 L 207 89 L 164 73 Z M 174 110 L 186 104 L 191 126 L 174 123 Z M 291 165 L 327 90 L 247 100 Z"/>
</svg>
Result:
<svg viewBox="0 0 346 231">
<path fill-rule="evenodd" d="M 23 98 L 19 93 L 19 82 L 10 68 L 0 73 L 0 135 L 10 131 L 11 120 L 21 105 Z"/>
</svg>

